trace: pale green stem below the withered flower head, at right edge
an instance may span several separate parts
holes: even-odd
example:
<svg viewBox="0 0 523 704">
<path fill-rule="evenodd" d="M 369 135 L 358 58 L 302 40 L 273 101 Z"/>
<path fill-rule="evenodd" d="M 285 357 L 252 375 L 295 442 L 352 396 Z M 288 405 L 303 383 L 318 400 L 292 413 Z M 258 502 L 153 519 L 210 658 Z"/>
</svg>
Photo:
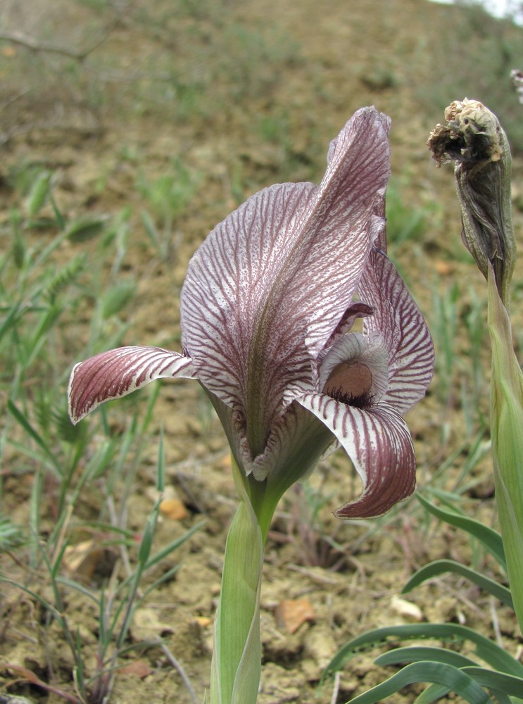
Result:
<svg viewBox="0 0 523 704">
<path fill-rule="evenodd" d="M 496 502 L 512 599 L 523 633 L 523 374 L 512 346 L 510 318 L 496 288 L 492 268 L 488 291 Z"/>
</svg>

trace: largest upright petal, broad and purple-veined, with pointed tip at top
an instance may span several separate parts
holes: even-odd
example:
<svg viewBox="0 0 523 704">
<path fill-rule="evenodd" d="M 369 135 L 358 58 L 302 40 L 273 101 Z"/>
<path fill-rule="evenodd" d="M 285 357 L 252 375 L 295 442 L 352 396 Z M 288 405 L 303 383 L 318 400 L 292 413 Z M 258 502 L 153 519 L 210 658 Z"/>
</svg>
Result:
<svg viewBox="0 0 523 704">
<path fill-rule="evenodd" d="M 292 399 L 313 389 L 311 357 L 353 303 L 389 177 L 388 118 L 355 113 L 320 187 L 278 184 L 215 227 L 182 289 L 183 344 L 204 386 L 246 417 L 253 455 Z"/>
</svg>

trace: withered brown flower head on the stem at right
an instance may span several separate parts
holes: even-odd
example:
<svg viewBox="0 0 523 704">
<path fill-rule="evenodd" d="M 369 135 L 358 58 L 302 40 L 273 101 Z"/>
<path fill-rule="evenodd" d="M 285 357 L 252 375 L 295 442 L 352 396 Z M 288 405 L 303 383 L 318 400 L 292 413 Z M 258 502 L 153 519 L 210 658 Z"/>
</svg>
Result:
<svg viewBox="0 0 523 704">
<path fill-rule="evenodd" d="M 493 265 L 506 306 L 515 263 L 507 137 L 496 115 L 475 100 L 454 101 L 445 120 L 432 130 L 428 146 L 438 165 L 456 161 L 463 242 L 485 278 Z"/>
</svg>

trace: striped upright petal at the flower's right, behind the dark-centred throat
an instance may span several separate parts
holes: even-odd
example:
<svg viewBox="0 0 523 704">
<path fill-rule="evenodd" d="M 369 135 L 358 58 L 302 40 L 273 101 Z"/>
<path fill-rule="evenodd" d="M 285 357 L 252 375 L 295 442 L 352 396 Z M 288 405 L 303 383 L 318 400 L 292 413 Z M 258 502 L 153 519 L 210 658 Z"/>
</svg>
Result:
<svg viewBox="0 0 523 704">
<path fill-rule="evenodd" d="M 364 334 L 379 332 L 389 353 L 389 389 L 384 401 L 405 413 L 423 398 L 434 371 L 434 346 L 420 309 L 393 263 L 374 250 L 358 289 L 374 308 L 363 320 Z"/>
</svg>

